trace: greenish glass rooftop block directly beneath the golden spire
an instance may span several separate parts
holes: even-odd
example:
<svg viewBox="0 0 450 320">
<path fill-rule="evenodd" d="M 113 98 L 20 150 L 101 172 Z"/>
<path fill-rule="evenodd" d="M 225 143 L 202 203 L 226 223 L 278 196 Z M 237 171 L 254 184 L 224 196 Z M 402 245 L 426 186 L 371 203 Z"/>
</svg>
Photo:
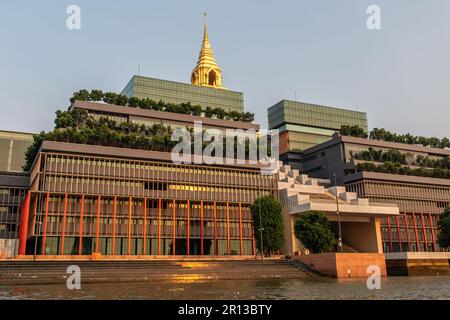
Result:
<svg viewBox="0 0 450 320">
<path fill-rule="evenodd" d="M 222 108 L 225 111 L 244 112 L 244 95 L 224 89 L 198 87 L 187 83 L 134 76 L 123 89 L 128 97 L 149 98 L 166 103 L 186 103 L 204 108 Z"/>
</svg>

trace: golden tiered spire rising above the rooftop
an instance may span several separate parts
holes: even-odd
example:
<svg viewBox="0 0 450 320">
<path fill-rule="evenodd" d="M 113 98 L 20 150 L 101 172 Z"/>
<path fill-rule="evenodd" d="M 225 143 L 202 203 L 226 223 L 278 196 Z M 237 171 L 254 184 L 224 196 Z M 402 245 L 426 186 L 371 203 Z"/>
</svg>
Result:
<svg viewBox="0 0 450 320">
<path fill-rule="evenodd" d="M 192 71 L 191 83 L 194 86 L 224 89 L 222 87 L 222 70 L 214 58 L 214 53 L 211 44 L 209 43 L 206 13 L 204 19 L 202 47 L 200 49 L 197 66 Z"/>
</svg>

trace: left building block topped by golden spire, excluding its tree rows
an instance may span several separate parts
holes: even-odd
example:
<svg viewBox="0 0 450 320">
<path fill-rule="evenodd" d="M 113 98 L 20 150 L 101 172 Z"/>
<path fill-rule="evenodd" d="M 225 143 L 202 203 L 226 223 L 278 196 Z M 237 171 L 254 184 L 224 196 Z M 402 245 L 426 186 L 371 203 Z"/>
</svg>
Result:
<svg viewBox="0 0 450 320">
<path fill-rule="evenodd" d="M 243 112 L 222 86 L 205 22 L 192 84 L 134 76 L 123 93 Z M 254 129 L 249 122 L 74 101 L 93 118 L 145 126 Z M 171 153 L 44 141 L 22 203 L 19 255 L 253 255 L 250 206 L 276 196 L 257 165 L 177 165 Z"/>
</svg>

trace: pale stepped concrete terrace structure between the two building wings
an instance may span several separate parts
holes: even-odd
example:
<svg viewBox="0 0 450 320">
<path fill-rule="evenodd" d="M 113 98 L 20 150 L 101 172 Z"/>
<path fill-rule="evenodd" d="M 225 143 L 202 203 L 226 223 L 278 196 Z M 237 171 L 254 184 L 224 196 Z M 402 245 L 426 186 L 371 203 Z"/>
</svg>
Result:
<svg viewBox="0 0 450 320">
<path fill-rule="evenodd" d="M 368 199 L 359 198 L 355 192 L 346 191 L 345 187 L 326 188 L 320 185 L 319 180 L 288 165 L 280 167 L 277 180 L 279 199 L 284 208 L 285 254 L 306 254 L 305 247 L 295 236 L 294 226 L 298 216 L 310 211 L 326 215 L 336 238 L 339 221 L 343 252 L 383 254 L 381 223 L 383 219 L 399 216 L 395 204 L 369 203 Z"/>
</svg>

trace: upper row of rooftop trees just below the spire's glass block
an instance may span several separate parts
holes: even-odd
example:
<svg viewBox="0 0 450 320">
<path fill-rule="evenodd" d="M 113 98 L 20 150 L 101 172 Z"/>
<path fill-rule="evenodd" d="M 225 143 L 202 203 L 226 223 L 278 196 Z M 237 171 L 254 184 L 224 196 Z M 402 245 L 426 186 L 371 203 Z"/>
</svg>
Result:
<svg viewBox="0 0 450 320">
<path fill-rule="evenodd" d="M 203 108 L 199 105 L 191 105 L 191 103 L 166 103 L 163 101 L 156 102 L 152 99 L 139 99 L 135 97 L 128 98 L 126 95 L 117 94 L 113 92 L 103 92 L 101 90 L 80 90 L 73 94 L 70 99 L 72 103 L 75 100 L 90 101 L 90 102 L 104 102 L 119 106 L 126 106 L 130 108 L 141 108 L 146 110 L 174 112 L 181 114 L 189 114 L 193 116 L 205 116 L 208 118 L 224 119 L 231 121 L 253 122 L 255 115 L 251 112 L 227 112 L 222 108 Z"/>
</svg>

